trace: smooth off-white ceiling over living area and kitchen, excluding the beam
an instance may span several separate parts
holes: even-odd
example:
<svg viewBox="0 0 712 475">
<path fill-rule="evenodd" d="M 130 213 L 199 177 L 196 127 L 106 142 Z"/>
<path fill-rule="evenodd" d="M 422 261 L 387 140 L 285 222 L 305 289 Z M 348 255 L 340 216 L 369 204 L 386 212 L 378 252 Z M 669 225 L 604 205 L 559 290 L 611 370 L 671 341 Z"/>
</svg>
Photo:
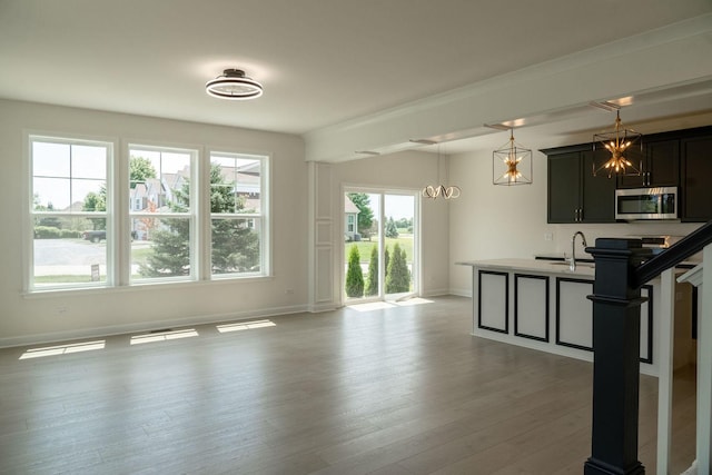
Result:
<svg viewBox="0 0 712 475">
<path fill-rule="evenodd" d="M 308 136 L 710 13 L 712 0 L 0 0 L 0 98 Z M 265 95 L 207 96 L 226 68 Z M 624 120 L 712 113 L 700 79 Z M 590 109 L 527 125 L 541 138 L 612 122 Z M 456 138 L 448 152 L 486 141 Z"/>
</svg>

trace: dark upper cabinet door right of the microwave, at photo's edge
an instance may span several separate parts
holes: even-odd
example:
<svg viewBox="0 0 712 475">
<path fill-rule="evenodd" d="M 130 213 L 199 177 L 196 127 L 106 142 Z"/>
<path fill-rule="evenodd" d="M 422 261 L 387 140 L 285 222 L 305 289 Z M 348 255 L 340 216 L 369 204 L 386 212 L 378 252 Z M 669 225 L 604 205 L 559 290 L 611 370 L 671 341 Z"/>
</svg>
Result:
<svg viewBox="0 0 712 475">
<path fill-rule="evenodd" d="M 685 221 L 712 219 L 712 137 L 682 141 L 683 207 Z"/>
</svg>

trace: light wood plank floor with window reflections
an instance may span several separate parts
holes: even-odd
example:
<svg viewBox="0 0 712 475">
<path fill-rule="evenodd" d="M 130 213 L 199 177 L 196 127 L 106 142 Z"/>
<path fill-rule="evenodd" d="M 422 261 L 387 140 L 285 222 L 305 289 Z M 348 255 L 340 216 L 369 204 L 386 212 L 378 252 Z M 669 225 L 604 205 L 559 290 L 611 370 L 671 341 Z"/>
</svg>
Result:
<svg viewBox="0 0 712 475">
<path fill-rule="evenodd" d="M 592 365 L 472 337 L 471 315 L 444 297 L 31 359 L 2 349 L 0 473 L 581 474 Z M 641 377 L 649 474 L 656 385 Z M 680 473 L 691 374 L 675 392 Z"/>
</svg>

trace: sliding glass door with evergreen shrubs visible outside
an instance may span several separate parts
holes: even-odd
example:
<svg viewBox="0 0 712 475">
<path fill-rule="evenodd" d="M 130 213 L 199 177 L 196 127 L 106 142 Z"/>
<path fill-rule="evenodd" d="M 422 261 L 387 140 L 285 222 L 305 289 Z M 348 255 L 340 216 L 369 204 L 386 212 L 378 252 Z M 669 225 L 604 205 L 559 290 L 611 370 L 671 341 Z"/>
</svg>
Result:
<svg viewBox="0 0 712 475">
<path fill-rule="evenodd" d="M 344 295 L 347 303 L 417 293 L 417 192 L 344 194 Z"/>
</svg>

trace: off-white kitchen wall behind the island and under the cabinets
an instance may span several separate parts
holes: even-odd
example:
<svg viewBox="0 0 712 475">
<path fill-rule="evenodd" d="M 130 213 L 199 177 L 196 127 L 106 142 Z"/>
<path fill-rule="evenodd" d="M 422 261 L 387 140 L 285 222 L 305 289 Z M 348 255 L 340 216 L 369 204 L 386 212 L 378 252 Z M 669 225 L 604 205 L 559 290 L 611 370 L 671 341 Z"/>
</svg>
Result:
<svg viewBox="0 0 712 475">
<path fill-rule="evenodd" d="M 671 129 L 674 130 L 674 127 Z M 541 148 L 546 147 L 543 145 Z M 463 260 L 506 257 L 533 258 L 537 254 L 571 253 L 571 238 L 576 230 L 585 234 L 590 246 L 599 237 L 641 235 L 685 236 L 699 224 L 546 224 L 546 156 L 534 151 L 532 185 L 514 187 L 492 185 L 492 151 L 451 157 L 451 176 L 463 186 L 462 198 L 451 204 L 449 286 L 451 293 L 472 294 L 472 268 L 456 266 Z M 545 240 L 551 234 L 552 240 Z M 576 255 L 583 247 L 576 241 Z"/>
</svg>

